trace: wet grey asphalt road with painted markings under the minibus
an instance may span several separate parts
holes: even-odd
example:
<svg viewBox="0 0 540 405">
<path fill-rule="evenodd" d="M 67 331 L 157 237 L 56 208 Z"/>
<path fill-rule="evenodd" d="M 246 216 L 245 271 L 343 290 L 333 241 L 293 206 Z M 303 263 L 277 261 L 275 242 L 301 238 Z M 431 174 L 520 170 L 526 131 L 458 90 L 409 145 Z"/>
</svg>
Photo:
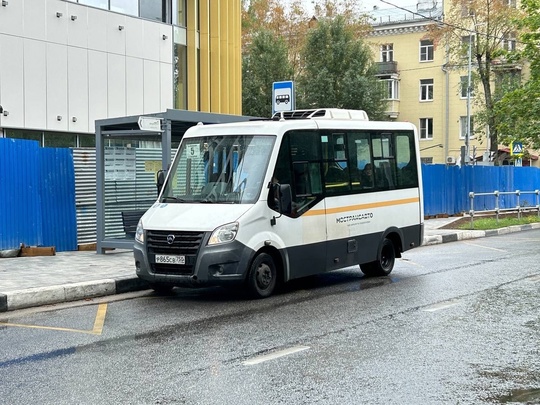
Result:
<svg viewBox="0 0 540 405">
<path fill-rule="evenodd" d="M 0 315 L 6 404 L 540 403 L 540 230 L 266 300 L 176 289 Z"/>
</svg>

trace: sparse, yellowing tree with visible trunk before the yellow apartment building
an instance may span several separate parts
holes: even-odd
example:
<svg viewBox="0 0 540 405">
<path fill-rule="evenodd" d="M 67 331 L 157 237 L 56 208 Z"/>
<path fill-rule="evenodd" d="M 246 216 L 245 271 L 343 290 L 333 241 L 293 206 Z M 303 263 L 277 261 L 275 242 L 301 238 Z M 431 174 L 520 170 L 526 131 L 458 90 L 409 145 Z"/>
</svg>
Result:
<svg viewBox="0 0 540 405">
<path fill-rule="evenodd" d="M 475 114 L 475 126 L 488 128 L 490 152 L 497 154 L 499 132 L 494 110 L 495 72 L 505 64 L 504 47 L 517 30 L 521 12 L 507 0 L 450 0 L 443 23 L 434 23 L 431 35 L 448 49 L 449 65 L 468 68 L 467 52 L 471 46 L 472 64 L 482 91 L 483 111 Z M 515 41 L 514 41 L 515 42 Z M 480 125 L 477 125 L 480 124 Z"/>
</svg>

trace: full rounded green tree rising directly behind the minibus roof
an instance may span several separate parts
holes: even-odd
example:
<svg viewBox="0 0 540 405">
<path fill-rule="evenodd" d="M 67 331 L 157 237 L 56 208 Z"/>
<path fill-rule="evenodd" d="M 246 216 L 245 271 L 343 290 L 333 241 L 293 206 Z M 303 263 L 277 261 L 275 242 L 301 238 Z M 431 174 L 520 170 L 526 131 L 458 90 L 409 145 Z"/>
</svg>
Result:
<svg viewBox="0 0 540 405">
<path fill-rule="evenodd" d="M 302 56 L 297 91 L 301 108 L 362 109 L 370 118 L 383 117 L 385 93 L 375 77 L 371 50 L 355 38 L 345 18 L 320 20 L 308 33 Z"/>
</svg>

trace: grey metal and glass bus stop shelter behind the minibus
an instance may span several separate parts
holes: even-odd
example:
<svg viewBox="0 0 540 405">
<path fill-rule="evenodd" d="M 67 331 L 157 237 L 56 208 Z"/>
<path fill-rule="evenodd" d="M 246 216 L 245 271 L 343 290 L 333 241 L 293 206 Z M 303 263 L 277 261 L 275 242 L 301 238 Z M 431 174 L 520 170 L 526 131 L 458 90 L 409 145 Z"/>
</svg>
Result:
<svg viewBox="0 0 540 405">
<path fill-rule="evenodd" d="M 167 110 L 96 120 L 97 253 L 133 248 L 137 222 L 157 199 L 156 173 L 167 170 L 188 128 L 250 119 Z"/>
</svg>

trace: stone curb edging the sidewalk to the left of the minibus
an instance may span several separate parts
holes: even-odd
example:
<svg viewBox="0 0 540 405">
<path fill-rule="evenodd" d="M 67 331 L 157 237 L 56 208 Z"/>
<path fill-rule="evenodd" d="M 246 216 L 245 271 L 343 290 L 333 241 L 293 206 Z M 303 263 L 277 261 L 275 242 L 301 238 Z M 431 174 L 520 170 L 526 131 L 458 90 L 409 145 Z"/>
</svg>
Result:
<svg viewBox="0 0 540 405">
<path fill-rule="evenodd" d="M 0 312 L 123 294 L 148 288 L 138 277 L 121 277 L 0 293 Z"/>
</svg>

